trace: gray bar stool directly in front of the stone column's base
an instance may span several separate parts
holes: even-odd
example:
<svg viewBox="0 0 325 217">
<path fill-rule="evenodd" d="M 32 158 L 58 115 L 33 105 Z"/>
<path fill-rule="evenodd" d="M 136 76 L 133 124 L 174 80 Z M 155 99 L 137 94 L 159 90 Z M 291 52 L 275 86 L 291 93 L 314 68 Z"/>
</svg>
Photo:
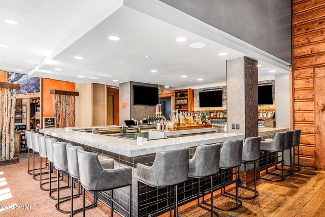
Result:
<svg viewBox="0 0 325 217">
<path fill-rule="evenodd" d="M 254 163 L 254 189 L 250 189 L 241 185 L 238 185 L 238 187 L 254 192 L 254 195 L 251 197 L 238 196 L 241 199 L 250 200 L 258 196 L 258 192 L 256 191 L 256 164 L 258 163 L 260 148 L 261 148 L 261 137 L 257 136 L 257 137 L 249 137 L 245 139 L 243 145 L 242 163 L 244 163 L 245 165 L 245 171 L 246 171 L 246 164 L 248 162 Z M 230 194 L 226 192 L 224 193 L 236 197 L 236 195 L 234 194 Z"/>
</svg>

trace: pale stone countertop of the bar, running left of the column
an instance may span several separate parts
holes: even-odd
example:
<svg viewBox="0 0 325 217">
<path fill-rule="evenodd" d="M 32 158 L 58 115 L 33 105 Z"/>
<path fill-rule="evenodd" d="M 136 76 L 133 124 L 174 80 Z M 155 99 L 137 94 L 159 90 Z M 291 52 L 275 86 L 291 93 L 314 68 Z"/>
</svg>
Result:
<svg viewBox="0 0 325 217">
<path fill-rule="evenodd" d="M 156 153 L 160 150 L 173 150 L 244 138 L 243 134 L 211 133 L 137 142 L 132 139 L 86 133 L 71 129 L 41 129 L 40 132 L 49 136 L 122 154 L 127 157 L 142 156 L 144 154 Z"/>
</svg>

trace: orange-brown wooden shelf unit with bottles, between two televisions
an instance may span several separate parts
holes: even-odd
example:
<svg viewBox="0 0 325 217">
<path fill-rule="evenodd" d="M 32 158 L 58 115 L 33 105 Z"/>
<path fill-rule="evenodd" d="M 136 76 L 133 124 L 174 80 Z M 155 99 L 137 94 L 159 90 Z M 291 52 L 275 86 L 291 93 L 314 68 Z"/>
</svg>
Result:
<svg viewBox="0 0 325 217">
<path fill-rule="evenodd" d="M 194 110 L 194 90 L 180 89 L 174 91 L 175 110 L 193 111 Z"/>
</svg>

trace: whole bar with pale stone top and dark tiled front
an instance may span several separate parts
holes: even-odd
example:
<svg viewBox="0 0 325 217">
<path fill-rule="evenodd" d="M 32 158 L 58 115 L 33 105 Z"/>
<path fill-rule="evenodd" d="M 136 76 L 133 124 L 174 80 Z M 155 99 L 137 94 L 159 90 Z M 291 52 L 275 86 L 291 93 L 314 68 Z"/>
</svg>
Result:
<svg viewBox="0 0 325 217">
<path fill-rule="evenodd" d="M 262 140 L 273 138 L 275 133 L 284 132 L 285 128 L 266 128 L 259 131 Z M 190 130 L 196 132 L 197 130 Z M 244 139 L 243 134 L 235 133 L 209 133 L 176 138 L 164 138 L 139 142 L 132 139 L 119 138 L 115 136 L 106 136 L 66 129 L 43 129 L 40 130 L 45 135 L 54 137 L 59 141 L 68 142 L 72 145 L 83 147 L 87 151 L 99 154 L 100 159 L 113 158 L 114 168 L 132 167 L 132 216 L 147 216 L 149 213 L 165 212 L 168 208 L 168 201 L 154 203 L 158 199 L 169 197 L 166 188 L 156 189 L 144 185 L 137 181 L 137 163 L 151 166 L 155 153 L 160 150 L 173 150 L 181 148 L 190 148 L 190 158 L 193 157 L 196 147 L 199 145 L 213 144 L 225 141 Z M 259 166 L 261 170 L 265 167 L 265 154 L 261 152 Z M 269 159 L 272 159 L 272 157 Z M 274 156 L 273 156 L 274 159 Z M 226 172 L 226 184 L 232 183 L 233 171 Z M 203 182 L 203 183 L 202 183 Z M 214 188 L 220 187 L 220 175 L 214 176 Z M 209 179 L 200 181 L 200 186 L 204 184 L 204 189 L 208 190 L 210 186 Z M 198 179 L 188 178 L 188 180 L 179 185 L 179 203 L 184 204 L 197 196 Z M 114 191 L 114 199 L 126 208 L 129 201 L 129 190 L 121 188 Z M 110 204 L 110 192 L 99 193 L 99 199 L 106 205 Z M 148 205 L 148 203 L 150 204 Z M 153 202 L 153 203 L 151 203 Z M 109 205 L 108 205 L 109 206 Z M 124 213 L 122 209 L 116 207 L 118 211 Z"/>
</svg>

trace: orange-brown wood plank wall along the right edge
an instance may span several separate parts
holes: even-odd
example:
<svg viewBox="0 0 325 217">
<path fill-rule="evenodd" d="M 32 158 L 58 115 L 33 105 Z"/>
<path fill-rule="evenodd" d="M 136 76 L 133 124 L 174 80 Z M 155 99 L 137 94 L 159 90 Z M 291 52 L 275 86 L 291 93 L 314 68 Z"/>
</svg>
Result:
<svg viewBox="0 0 325 217">
<path fill-rule="evenodd" d="M 302 129 L 300 162 L 324 170 L 325 0 L 292 3 L 294 128 Z"/>
</svg>

